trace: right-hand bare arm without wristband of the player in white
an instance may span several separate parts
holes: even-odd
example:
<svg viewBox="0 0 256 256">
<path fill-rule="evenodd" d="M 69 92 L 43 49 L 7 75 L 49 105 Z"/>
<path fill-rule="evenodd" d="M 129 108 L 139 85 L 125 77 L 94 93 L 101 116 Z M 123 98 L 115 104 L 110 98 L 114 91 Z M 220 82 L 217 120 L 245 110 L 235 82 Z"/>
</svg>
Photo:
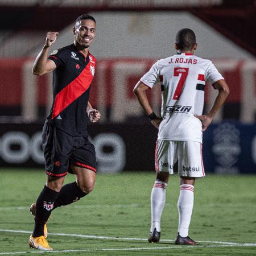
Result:
<svg viewBox="0 0 256 256">
<path fill-rule="evenodd" d="M 213 87 L 218 90 L 218 96 L 216 97 L 216 100 L 214 101 L 214 104 L 208 114 L 205 115 L 195 115 L 195 117 L 199 118 L 203 125 L 203 131 L 207 129 L 207 127 L 212 122 L 212 119 L 214 118 L 214 115 L 218 112 L 218 110 L 221 108 L 221 106 L 224 104 L 226 98 L 229 95 L 229 87 L 226 84 L 225 80 L 221 79 L 216 82 L 214 82 Z"/>
</svg>

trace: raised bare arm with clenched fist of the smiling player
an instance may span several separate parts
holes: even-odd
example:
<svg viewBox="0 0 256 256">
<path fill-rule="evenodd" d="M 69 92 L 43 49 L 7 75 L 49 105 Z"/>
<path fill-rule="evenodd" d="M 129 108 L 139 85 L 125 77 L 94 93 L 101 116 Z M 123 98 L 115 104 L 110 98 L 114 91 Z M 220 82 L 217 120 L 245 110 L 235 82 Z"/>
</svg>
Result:
<svg viewBox="0 0 256 256">
<path fill-rule="evenodd" d="M 33 65 L 33 74 L 36 76 L 42 76 L 46 73 L 53 71 L 57 66 L 52 60 L 47 60 L 49 56 L 49 48 L 55 43 L 58 32 L 48 32 L 46 34 L 46 43 L 42 51 L 39 52 Z"/>
</svg>

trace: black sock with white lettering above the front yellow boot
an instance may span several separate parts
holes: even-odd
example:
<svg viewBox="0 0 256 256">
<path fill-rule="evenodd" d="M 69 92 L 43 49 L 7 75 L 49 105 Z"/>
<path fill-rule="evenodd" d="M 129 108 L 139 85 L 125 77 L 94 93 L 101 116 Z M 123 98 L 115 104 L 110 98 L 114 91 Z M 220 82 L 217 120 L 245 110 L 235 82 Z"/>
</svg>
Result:
<svg viewBox="0 0 256 256">
<path fill-rule="evenodd" d="M 59 192 L 56 192 L 44 185 L 38 200 L 36 200 L 35 226 L 32 237 L 40 237 L 44 235 L 44 224 L 46 224 L 49 216 L 51 215 L 51 211 L 58 194 Z"/>
</svg>

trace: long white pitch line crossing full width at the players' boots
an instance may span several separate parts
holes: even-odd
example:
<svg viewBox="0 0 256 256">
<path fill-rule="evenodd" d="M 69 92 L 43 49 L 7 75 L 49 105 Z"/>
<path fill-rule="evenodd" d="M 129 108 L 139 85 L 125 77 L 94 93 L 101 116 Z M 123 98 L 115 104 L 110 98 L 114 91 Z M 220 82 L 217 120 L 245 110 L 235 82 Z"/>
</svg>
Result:
<svg viewBox="0 0 256 256">
<path fill-rule="evenodd" d="M 0 229 L 0 232 L 31 234 L 31 231 L 11 230 L 11 229 Z M 135 238 L 135 237 L 133 237 L 133 238 L 131 238 L 131 237 L 104 237 L 104 236 L 90 236 L 90 235 L 83 235 L 83 234 L 64 234 L 64 233 L 48 233 L 48 234 L 51 235 L 51 236 L 83 237 L 83 238 L 99 239 L 99 240 L 147 241 L 146 238 Z M 163 242 L 174 242 L 174 240 L 170 240 L 170 239 L 161 239 L 161 241 L 163 241 Z M 198 241 L 198 242 L 218 243 L 219 245 L 227 245 L 227 246 L 256 246 L 256 243 L 236 243 L 236 242 L 219 242 L 219 241 Z M 205 246 L 207 246 L 207 245 L 205 245 Z M 198 247 L 198 246 L 196 246 L 196 247 Z M 158 248 L 158 247 L 156 247 L 156 248 Z"/>
</svg>

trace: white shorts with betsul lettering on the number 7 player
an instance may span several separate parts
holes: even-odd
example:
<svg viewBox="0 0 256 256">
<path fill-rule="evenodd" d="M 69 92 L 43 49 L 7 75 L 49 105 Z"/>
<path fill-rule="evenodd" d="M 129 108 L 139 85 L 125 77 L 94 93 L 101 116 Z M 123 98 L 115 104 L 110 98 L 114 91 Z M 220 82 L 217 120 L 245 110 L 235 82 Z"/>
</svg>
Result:
<svg viewBox="0 0 256 256">
<path fill-rule="evenodd" d="M 163 141 L 158 139 L 155 148 L 156 172 L 174 173 L 178 161 L 178 174 L 184 177 L 204 177 L 202 143 L 195 141 Z"/>
</svg>

